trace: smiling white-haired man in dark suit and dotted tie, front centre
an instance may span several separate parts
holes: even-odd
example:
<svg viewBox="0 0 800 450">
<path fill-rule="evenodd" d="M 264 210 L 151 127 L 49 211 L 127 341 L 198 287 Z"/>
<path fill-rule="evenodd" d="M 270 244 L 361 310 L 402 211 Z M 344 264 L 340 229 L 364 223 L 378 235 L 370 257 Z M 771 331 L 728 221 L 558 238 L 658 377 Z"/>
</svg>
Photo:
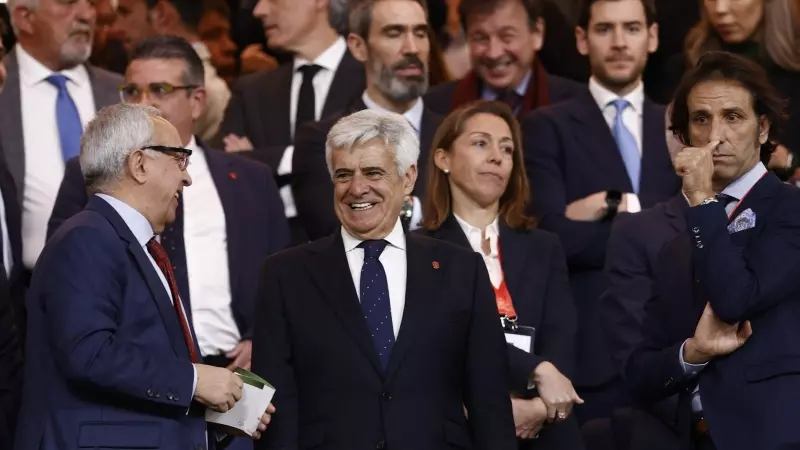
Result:
<svg viewBox="0 0 800 450">
<path fill-rule="evenodd" d="M 256 448 L 516 449 L 483 260 L 400 223 L 417 181 L 413 127 L 359 111 L 325 153 L 339 229 L 262 272 L 253 368 L 281 412 Z"/>
</svg>

